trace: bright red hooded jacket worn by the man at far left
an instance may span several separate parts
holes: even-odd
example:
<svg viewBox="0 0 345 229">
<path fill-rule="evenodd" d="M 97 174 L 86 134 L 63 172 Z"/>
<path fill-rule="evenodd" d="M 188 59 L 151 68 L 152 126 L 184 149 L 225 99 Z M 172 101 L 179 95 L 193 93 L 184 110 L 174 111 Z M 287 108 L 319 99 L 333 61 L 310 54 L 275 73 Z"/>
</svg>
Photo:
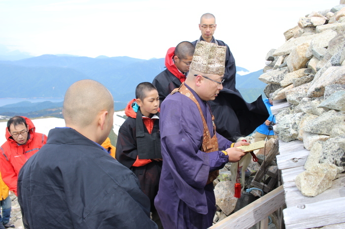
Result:
<svg viewBox="0 0 345 229">
<path fill-rule="evenodd" d="M 24 117 L 24 116 L 23 116 Z M 25 144 L 18 144 L 8 133 L 6 127 L 6 142 L 0 147 L 0 172 L 2 180 L 17 195 L 18 174 L 25 162 L 47 142 L 47 136 L 35 133 L 34 123 L 24 117 L 29 125 L 30 138 Z"/>
</svg>

